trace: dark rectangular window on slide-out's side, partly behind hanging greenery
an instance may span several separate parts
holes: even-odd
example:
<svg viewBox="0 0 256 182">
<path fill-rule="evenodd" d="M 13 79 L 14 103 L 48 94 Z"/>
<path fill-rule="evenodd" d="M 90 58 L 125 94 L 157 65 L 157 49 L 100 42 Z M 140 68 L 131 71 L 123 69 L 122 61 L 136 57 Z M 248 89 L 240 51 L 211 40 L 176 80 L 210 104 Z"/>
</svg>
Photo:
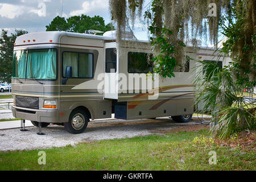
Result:
<svg viewBox="0 0 256 182">
<path fill-rule="evenodd" d="M 148 63 L 152 54 L 144 52 L 128 52 L 128 73 L 152 73 L 153 65 Z"/>
</svg>

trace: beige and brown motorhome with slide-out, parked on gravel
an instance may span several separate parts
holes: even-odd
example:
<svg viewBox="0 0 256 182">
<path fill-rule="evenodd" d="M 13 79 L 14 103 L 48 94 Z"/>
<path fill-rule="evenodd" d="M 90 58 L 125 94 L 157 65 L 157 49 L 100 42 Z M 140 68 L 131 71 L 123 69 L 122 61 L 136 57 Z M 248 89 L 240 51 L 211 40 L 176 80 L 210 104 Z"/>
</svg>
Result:
<svg viewBox="0 0 256 182">
<path fill-rule="evenodd" d="M 49 123 L 64 125 L 72 134 L 112 114 L 119 119 L 171 116 L 177 122 L 189 122 L 194 112 L 192 68 L 196 61 L 187 60 L 183 72 L 159 78 L 155 85 L 156 80 L 147 77 L 152 72 L 148 42 L 118 46 L 112 33 L 49 31 L 19 36 L 13 61 L 14 117 L 30 120 L 39 128 Z M 213 50 L 206 48 L 187 47 L 186 55 L 214 59 Z M 153 80 L 157 97 L 149 99 L 155 92 L 130 86 L 136 79 L 140 86 Z"/>
</svg>

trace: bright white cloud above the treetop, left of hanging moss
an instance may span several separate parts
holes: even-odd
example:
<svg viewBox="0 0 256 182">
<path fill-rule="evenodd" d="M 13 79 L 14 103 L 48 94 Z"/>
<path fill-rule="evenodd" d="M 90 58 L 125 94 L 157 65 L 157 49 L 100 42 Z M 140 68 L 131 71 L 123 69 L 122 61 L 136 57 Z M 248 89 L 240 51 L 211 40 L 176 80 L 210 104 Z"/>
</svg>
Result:
<svg viewBox="0 0 256 182">
<path fill-rule="evenodd" d="M 90 14 L 90 13 L 100 13 L 101 11 L 108 10 L 108 1 L 106 0 L 94 0 L 94 1 L 85 1 L 82 3 L 82 10 L 71 11 L 70 15 L 81 15 L 81 14 Z"/>
</svg>

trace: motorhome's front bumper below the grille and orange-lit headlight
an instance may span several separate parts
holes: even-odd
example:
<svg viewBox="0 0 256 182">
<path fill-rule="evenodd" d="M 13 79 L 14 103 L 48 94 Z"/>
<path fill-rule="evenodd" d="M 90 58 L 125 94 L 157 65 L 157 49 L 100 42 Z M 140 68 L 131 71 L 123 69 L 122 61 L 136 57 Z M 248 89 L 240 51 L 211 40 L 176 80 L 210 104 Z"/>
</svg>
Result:
<svg viewBox="0 0 256 182">
<path fill-rule="evenodd" d="M 59 111 L 57 110 L 35 110 L 16 106 L 12 106 L 11 110 L 15 118 L 37 122 L 59 123 Z"/>
</svg>

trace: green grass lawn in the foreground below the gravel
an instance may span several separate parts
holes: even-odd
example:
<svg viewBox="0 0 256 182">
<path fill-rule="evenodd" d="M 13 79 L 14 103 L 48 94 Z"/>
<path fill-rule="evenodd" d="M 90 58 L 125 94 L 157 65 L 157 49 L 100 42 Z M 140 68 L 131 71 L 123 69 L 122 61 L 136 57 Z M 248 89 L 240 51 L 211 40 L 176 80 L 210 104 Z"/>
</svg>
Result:
<svg viewBox="0 0 256 182">
<path fill-rule="evenodd" d="M 0 153 L 0 170 L 255 170 L 255 152 L 230 150 L 214 144 L 195 144 L 193 138 L 209 137 L 209 130 L 182 131 L 164 136 L 135 137 L 51 148 L 46 165 L 38 164 L 38 152 Z M 217 164 L 209 165 L 209 151 L 217 152 Z"/>
</svg>

